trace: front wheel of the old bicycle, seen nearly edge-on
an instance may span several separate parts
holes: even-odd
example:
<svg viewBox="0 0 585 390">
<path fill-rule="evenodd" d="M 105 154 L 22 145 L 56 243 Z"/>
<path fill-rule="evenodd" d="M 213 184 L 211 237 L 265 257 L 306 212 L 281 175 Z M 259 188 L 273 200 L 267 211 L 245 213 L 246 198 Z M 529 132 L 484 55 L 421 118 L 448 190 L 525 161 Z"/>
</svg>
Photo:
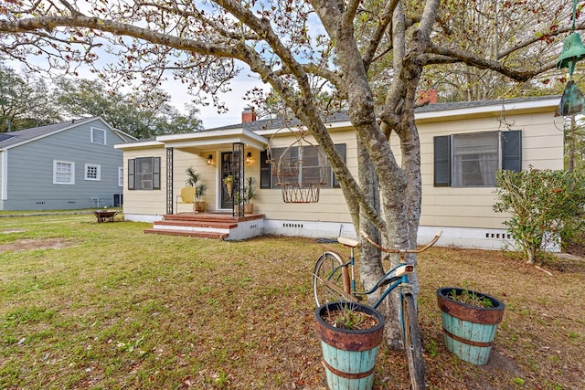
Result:
<svg viewBox="0 0 585 390">
<path fill-rule="evenodd" d="M 409 362 L 410 388 L 423 390 L 425 387 L 424 360 L 420 344 L 419 322 L 414 297 L 410 292 L 402 295 L 402 326 L 404 327 L 402 341 Z"/>
</svg>

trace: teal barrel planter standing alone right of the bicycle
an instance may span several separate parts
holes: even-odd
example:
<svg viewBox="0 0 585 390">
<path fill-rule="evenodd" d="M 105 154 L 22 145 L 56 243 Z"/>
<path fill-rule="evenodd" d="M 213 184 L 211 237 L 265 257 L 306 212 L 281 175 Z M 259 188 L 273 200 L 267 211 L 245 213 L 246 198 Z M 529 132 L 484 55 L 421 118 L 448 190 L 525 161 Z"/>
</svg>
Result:
<svg viewBox="0 0 585 390">
<path fill-rule="evenodd" d="M 452 300 L 449 294 L 473 293 L 480 300 L 489 300 L 492 307 L 480 307 Z M 472 290 L 444 287 L 437 290 L 441 309 L 442 333 L 445 346 L 465 362 L 487 364 L 495 338 L 497 324 L 504 317 L 505 305 L 489 295 Z"/>
</svg>

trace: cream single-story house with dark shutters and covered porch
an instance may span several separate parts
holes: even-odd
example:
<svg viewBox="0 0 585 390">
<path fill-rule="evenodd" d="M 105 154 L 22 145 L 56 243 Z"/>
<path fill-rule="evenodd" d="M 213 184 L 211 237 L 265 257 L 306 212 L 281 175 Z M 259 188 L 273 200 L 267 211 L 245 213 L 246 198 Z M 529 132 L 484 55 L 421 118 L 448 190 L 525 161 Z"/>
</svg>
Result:
<svg viewBox="0 0 585 390">
<path fill-rule="evenodd" d="M 416 111 L 423 185 L 421 242 L 442 230 L 439 244 L 443 246 L 503 246 L 509 237 L 503 225 L 506 216 L 493 210 L 495 172 L 502 168 L 527 169 L 529 165 L 563 168 L 562 118 L 554 118 L 559 100 L 555 96 L 435 103 Z M 331 117 L 327 126 L 349 169 L 356 172 L 355 132 L 347 116 Z M 213 230 L 218 237 L 228 239 L 261 234 L 355 237 L 344 196 L 331 169 L 316 157 L 318 148 L 311 138 L 299 143 L 297 130 L 294 123 L 285 121 L 256 121 L 254 112 L 246 110 L 239 124 L 116 145 L 123 151 L 125 167 L 124 216 L 153 222 L 154 228 L 149 232 L 156 233 L 197 234 Z M 397 139 L 390 142 L 398 145 Z M 300 150 L 304 150 L 305 160 L 302 174 L 321 174 L 324 178 L 315 203 L 283 202 L 294 194 L 282 193 L 282 185 L 278 185 L 282 179 L 277 174 L 284 170 L 267 163 L 267 151 L 275 159 L 282 153 L 297 156 Z M 193 167 L 207 184 L 204 214 L 208 217 L 232 215 L 233 194 L 224 181 L 227 176 L 254 177 L 254 217 L 239 216 L 238 223 L 229 228 L 216 226 L 208 218 L 177 221 L 179 216 L 197 215 L 177 197 L 185 186 L 188 167 Z"/>
</svg>

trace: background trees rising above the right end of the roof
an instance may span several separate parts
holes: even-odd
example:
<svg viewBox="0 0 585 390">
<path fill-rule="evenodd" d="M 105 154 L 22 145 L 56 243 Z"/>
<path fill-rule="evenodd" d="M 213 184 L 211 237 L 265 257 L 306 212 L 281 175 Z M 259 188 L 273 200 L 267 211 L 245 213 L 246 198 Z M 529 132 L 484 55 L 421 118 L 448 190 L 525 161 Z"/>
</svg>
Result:
<svg viewBox="0 0 585 390">
<path fill-rule="evenodd" d="M 506 67 L 525 68 L 529 58 L 533 69 L 541 68 L 560 53 L 551 33 L 562 31 L 568 20 L 566 1 L 542 2 L 473 0 L 467 6 L 444 1 L 440 26 L 446 44 L 436 45 L 435 67 L 427 67 L 420 87 L 440 91 L 441 101 L 470 101 L 560 94 L 565 74 L 548 69 L 534 79 L 516 82 L 491 67 L 453 61 L 451 53 L 442 57 L 441 46 L 458 47 L 455 57 L 473 56 L 485 63 L 504 62 Z M 545 28 L 542 28 L 545 26 Z M 526 43 L 540 41 L 527 50 Z M 456 43 L 455 43 L 456 42 Z M 578 79 L 580 75 L 575 75 Z"/>
</svg>

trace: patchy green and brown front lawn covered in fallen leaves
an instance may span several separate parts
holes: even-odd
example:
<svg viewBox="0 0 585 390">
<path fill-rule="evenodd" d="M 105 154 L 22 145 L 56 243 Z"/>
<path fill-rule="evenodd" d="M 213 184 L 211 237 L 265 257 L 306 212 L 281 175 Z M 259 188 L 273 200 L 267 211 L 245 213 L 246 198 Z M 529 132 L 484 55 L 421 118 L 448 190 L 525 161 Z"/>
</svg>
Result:
<svg viewBox="0 0 585 390">
<path fill-rule="evenodd" d="M 92 215 L 0 218 L 0 388 L 324 389 L 312 239 L 144 235 Z M 340 249 L 343 250 L 343 249 Z M 431 389 L 585 388 L 585 266 L 554 277 L 499 252 L 431 248 L 419 260 Z M 490 363 L 445 350 L 434 291 L 505 301 Z M 381 348 L 375 388 L 408 388 Z"/>
</svg>

